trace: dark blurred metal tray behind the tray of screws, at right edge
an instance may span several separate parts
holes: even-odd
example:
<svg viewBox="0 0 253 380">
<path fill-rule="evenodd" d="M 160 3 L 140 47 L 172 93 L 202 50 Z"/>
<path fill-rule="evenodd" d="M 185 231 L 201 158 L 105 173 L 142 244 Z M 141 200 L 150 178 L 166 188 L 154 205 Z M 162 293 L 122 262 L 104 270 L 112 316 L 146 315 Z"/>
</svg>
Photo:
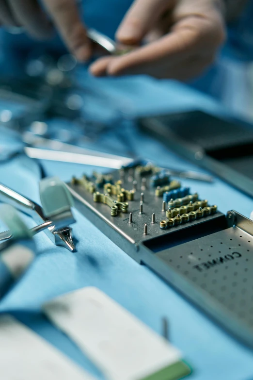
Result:
<svg viewBox="0 0 253 380">
<path fill-rule="evenodd" d="M 253 126 L 201 111 L 144 117 L 143 132 L 253 197 Z"/>
</svg>

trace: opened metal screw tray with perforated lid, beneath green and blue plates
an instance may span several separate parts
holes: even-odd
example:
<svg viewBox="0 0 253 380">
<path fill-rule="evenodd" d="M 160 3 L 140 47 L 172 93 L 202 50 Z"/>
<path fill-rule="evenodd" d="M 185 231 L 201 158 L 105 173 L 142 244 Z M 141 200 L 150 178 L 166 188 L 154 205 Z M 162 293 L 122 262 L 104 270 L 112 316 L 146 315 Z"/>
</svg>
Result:
<svg viewBox="0 0 253 380">
<path fill-rule="evenodd" d="M 125 184 L 127 187 L 127 183 Z M 128 214 L 113 217 L 110 208 L 94 203 L 79 185 L 68 184 L 76 207 L 115 244 L 185 294 L 195 304 L 253 347 L 253 222 L 235 211 L 161 230 L 161 198 L 144 191 L 141 182 Z M 149 198 L 150 197 L 150 198 Z M 156 223 L 151 223 L 152 213 Z M 148 224 L 148 234 L 143 226 Z"/>
</svg>

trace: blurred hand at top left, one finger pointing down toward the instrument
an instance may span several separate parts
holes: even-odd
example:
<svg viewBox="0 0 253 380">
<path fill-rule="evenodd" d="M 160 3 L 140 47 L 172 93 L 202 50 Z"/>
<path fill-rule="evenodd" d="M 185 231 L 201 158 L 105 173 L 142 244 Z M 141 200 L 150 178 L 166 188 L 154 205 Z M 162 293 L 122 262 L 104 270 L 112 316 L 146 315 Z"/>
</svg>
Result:
<svg viewBox="0 0 253 380">
<path fill-rule="evenodd" d="M 79 17 L 76 0 L 42 0 L 63 42 L 79 61 L 91 55 L 91 43 Z M 0 0 L 0 25 L 23 27 L 32 37 L 51 36 L 52 25 L 37 0 Z"/>
</svg>

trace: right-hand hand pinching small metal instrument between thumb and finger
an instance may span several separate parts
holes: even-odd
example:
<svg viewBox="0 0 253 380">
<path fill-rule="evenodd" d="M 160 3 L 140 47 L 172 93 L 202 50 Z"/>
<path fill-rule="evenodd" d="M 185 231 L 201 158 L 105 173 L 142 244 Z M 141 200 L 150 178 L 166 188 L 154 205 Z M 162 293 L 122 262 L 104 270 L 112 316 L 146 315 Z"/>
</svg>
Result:
<svg viewBox="0 0 253 380">
<path fill-rule="evenodd" d="M 117 40 L 144 46 L 119 57 L 98 59 L 95 76 L 148 74 L 188 80 L 209 66 L 225 39 L 221 0 L 135 0 Z"/>
</svg>

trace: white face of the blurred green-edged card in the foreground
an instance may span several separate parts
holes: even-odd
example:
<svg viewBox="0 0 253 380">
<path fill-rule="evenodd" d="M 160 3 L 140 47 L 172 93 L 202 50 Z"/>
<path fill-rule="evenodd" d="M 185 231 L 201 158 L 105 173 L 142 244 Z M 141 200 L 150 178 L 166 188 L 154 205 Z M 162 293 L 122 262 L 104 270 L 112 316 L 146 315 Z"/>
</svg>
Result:
<svg viewBox="0 0 253 380">
<path fill-rule="evenodd" d="M 181 360 L 176 348 L 94 287 L 43 309 L 110 380 L 139 380 Z"/>
</svg>

